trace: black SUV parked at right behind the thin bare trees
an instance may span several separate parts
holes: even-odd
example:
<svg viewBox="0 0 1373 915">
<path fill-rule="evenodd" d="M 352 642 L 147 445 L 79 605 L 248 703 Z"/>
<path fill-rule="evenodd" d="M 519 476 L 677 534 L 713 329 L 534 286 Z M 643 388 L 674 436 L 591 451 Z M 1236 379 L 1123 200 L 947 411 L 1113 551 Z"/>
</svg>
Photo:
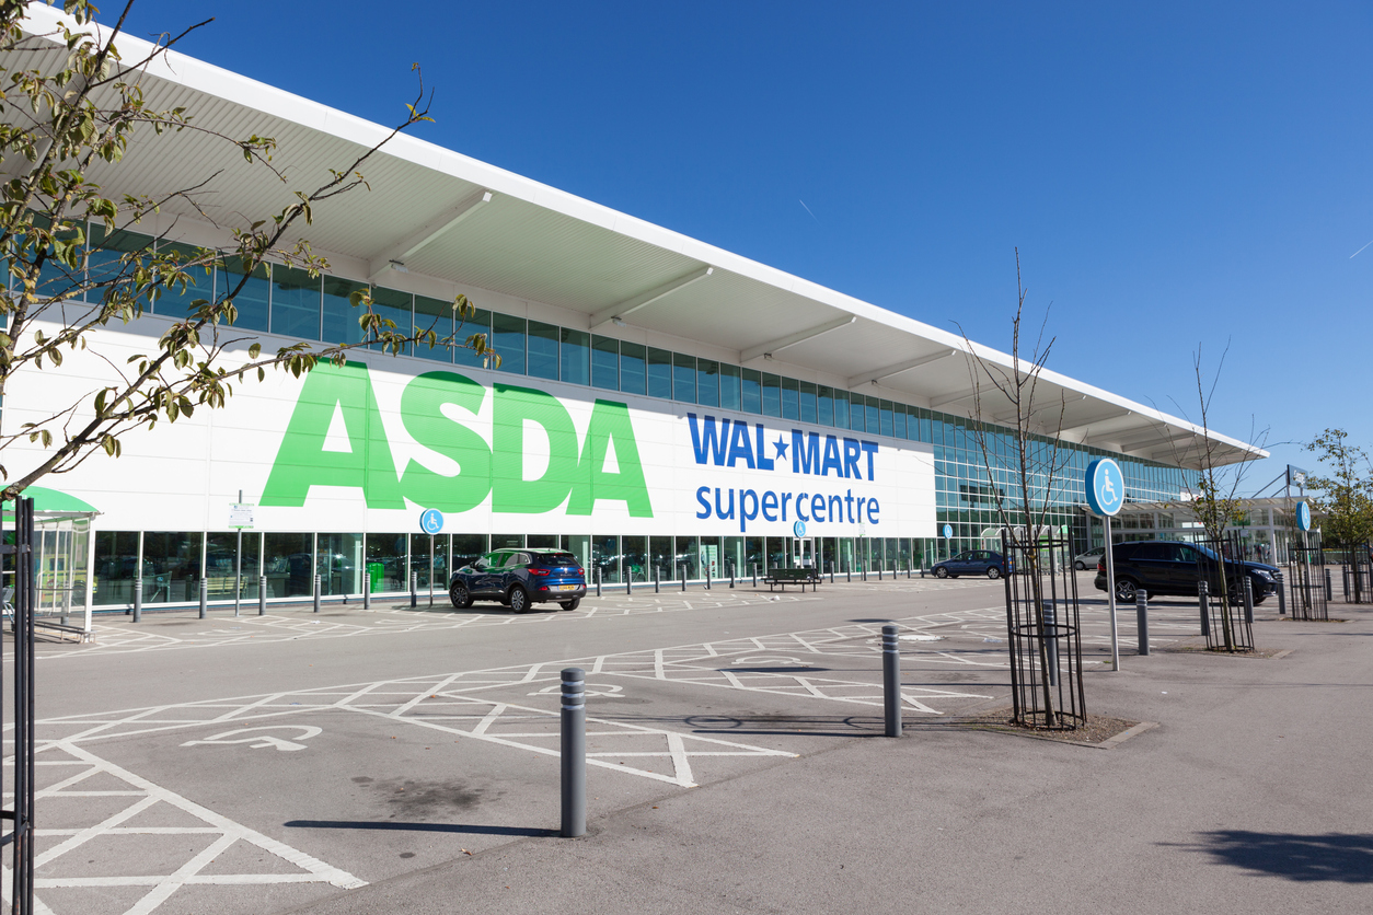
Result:
<svg viewBox="0 0 1373 915">
<path fill-rule="evenodd" d="M 1197 543 L 1178 543 L 1174 540 L 1135 540 L 1133 543 L 1116 543 L 1111 549 L 1115 557 L 1116 599 L 1126 604 L 1134 602 L 1137 590 L 1144 590 L 1153 597 L 1196 597 L 1197 582 L 1205 575 L 1214 579 L 1208 583 L 1215 594 L 1221 584 L 1221 558 Z M 1277 583 L 1273 578 L 1277 567 L 1263 562 L 1243 562 L 1238 560 L 1225 560 L 1226 589 L 1232 599 L 1243 599 L 1240 589 L 1248 576 L 1254 587 L 1254 602 L 1262 604 L 1270 594 L 1277 594 Z M 1097 578 L 1093 582 L 1098 591 L 1107 590 L 1107 560 L 1103 556 L 1097 564 Z"/>
</svg>

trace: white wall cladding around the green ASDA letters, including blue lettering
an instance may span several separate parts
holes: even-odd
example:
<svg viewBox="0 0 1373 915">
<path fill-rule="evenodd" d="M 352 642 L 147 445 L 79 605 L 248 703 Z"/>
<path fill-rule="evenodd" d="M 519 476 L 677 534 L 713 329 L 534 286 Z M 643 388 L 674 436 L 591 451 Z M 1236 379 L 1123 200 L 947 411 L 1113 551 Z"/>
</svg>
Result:
<svg viewBox="0 0 1373 915">
<path fill-rule="evenodd" d="M 67 405 L 99 387 L 117 384 L 117 370 L 125 366 L 128 357 L 155 351 L 157 336 L 152 335 L 163 326 L 157 318 L 144 318 L 132 325 L 137 332 L 100 332 L 95 346 L 67 357 L 59 370 L 22 373 L 11 385 L 5 423 L 11 429 L 16 428 L 14 424 L 48 416 L 47 406 Z M 265 337 L 264 344 L 275 346 L 270 337 Z M 96 350 L 100 357 L 95 355 Z M 415 439 L 411 429 L 417 423 L 467 427 L 490 447 L 493 423 L 503 409 L 497 403 L 496 385 L 531 388 L 556 398 L 571 420 L 577 446 L 584 453 L 595 402 L 600 399 L 627 406 L 651 517 L 643 509 L 634 516 L 626 501 L 610 499 L 597 499 L 589 516 L 570 514 L 571 497 L 546 512 L 493 512 L 492 495 L 487 494 L 475 508 L 446 512 L 445 532 L 787 536 L 802 520 L 807 536 L 936 534 L 932 447 L 925 443 L 417 358 L 364 353 L 350 362 L 368 366 L 365 377 L 375 396 L 375 416 L 394 464 L 394 469 L 382 468 L 382 472 L 390 472 L 393 477 L 404 473 L 411 461 L 442 476 L 460 473 L 453 460 Z M 338 370 L 325 366 L 316 372 Z M 443 403 L 442 418 L 402 416 L 402 392 L 427 372 L 453 372 L 479 383 L 483 388 L 479 410 L 474 414 L 456 403 Z M 357 369 L 353 373 L 357 375 Z M 306 377 L 294 379 L 283 372 L 270 372 L 261 383 L 236 383 L 228 407 L 202 409 L 174 424 L 159 423 L 152 431 L 132 431 L 122 439 L 122 457 L 95 454 L 71 473 L 49 476 L 44 484 L 91 502 L 102 512 L 96 521 L 100 530 L 228 530 L 229 508 L 238 502 L 242 490 L 246 502 L 259 503 L 255 510 L 257 530 L 417 531 L 420 512 L 431 506 L 405 498 L 404 508 L 368 508 L 361 486 L 336 486 L 338 479 L 324 469 L 309 477 L 303 505 L 262 503 L 268 477 L 281 454 L 306 384 Z M 353 387 L 362 390 L 365 385 Z M 330 433 L 316 447 L 323 460 L 368 447 L 365 436 L 358 436 L 357 429 L 350 436 L 343 418 L 345 410 L 361 406 L 365 406 L 361 401 L 331 405 L 334 421 Z M 549 465 L 549 436 L 535 421 L 524 420 L 523 427 L 523 454 L 496 454 L 493 465 L 498 473 L 501 468 L 512 466 L 511 461 L 518 461 L 520 477 L 534 480 Z M 743 428 L 736 431 L 736 427 Z M 710 440 L 711 432 L 721 438 Z M 810 472 L 803 472 L 794 454 L 798 440 L 805 449 L 803 457 L 814 457 Z M 763 460 L 758 455 L 759 443 Z M 612 439 L 610 453 L 597 469 L 623 473 L 626 457 L 616 453 L 621 447 Z M 15 444 L 8 451 L 11 479 L 37 464 L 43 455 L 41 449 L 27 443 L 22 447 Z M 828 466 L 821 466 L 827 453 Z M 585 476 L 586 469 L 584 462 L 579 472 Z M 402 495 L 404 490 L 402 486 Z M 817 495 L 821 497 L 820 503 Z M 817 508 L 822 510 L 817 513 Z"/>
</svg>

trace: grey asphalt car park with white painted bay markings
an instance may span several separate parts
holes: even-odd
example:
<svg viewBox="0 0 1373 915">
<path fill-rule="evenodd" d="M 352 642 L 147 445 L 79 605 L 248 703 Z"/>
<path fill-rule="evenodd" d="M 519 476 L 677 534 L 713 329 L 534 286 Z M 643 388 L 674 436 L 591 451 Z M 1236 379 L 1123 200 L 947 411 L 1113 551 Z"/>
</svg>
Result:
<svg viewBox="0 0 1373 915">
<path fill-rule="evenodd" d="M 37 894 L 65 912 L 1363 911 L 1373 615 L 1122 671 L 1114 749 L 950 726 L 1009 702 L 1002 587 L 717 586 L 511 616 L 97 617 L 40 649 Z M 881 737 L 879 634 L 906 735 Z M 1171 649 L 1171 650 L 1170 650 Z M 557 838 L 559 671 L 588 671 L 590 834 Z M 1359 903 L 1358 900 L 1365 900 Z"/>
</svg>

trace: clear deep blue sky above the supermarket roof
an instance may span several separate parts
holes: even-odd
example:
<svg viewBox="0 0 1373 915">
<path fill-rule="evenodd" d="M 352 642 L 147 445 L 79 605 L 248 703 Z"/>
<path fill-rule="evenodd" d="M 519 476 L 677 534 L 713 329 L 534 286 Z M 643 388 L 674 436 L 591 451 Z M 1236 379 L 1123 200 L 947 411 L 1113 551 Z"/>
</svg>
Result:
<svg viewBox="0 0 1373 915">
<path fill-rule="evenodd" d="M 1050 368 L 1170 413 L 1230 340 L 1248 490 L 1328 425 L 1373 446 L 1368 3 L 144 0 L 130 32 L 209 16 L 181 49 L 380 122 L 419 62 L 430 141 L 1000 348 L 1019 247 Z"/>
</svg>

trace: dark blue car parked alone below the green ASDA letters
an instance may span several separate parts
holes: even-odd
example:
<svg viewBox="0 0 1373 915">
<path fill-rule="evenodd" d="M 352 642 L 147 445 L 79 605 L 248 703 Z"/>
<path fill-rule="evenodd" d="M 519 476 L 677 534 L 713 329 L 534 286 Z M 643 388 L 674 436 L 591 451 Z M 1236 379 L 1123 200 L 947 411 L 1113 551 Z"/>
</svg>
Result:
<svg viewBox="0 0 1373 915">
<path fill-rule="evenodd" d="M 516 613 L 546 602 L 575 610 L 586 597 L 586 571 L 562 550 L 494 550 L 453 572 L 448 595 L 460 610 L 472 601 L 500 601 Z"/>
</svg>

